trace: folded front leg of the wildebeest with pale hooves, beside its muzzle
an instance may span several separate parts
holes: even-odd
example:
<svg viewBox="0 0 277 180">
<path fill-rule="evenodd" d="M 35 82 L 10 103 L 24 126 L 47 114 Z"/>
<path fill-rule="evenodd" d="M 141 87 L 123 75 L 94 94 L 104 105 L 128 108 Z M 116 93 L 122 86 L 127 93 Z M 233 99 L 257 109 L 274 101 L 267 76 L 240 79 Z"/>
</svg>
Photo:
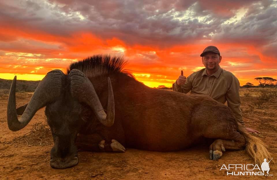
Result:
<svg viewBox="0 0 277 180">
<path fill-rule="evenodd" d="M 100 134 L 78 134 L 76 146 L 80 150 L 95 152 L 125 152 L 125 148 L 117 141 L 112 139 L 106 143 Z"/>
</svg>

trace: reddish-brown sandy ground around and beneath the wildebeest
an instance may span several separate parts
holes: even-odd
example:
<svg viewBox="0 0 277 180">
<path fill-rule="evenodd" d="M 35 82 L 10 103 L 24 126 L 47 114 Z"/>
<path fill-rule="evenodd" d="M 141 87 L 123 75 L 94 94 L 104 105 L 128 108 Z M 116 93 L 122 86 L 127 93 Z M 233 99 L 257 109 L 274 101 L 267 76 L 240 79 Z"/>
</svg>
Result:
<svg viewBox="0 0 277 180">
<path fill-rule="evenodd" d="M 17 95 L 17 106 L 29 101 L 31 93 Z M 262 109 L 252 109 L 253 97 L 242 97 L 243 119 L 247 127 L 259 130 L 277 161 L 277 99 L 265 103 Z M 13 139 L 31 130 L 31 125 L 44 122 L 44 109 L 18 132 L 8 129 L 7 96 L 0 99 L 0 179 L 275 179 L 277 166 L 270 163 L 269 174 L 261 176 L 227 176 L 223 164 L 254 164 L 243 151 L 227 150 L 217 161 L 208 159 L 209 144 L 178 152 L 151 152 L 127 149 L 126 153 L 79 152 L 79 164 L 68 169 L 53 169 L 49 165 L 51 145 L 15 144 Z M 257 136 L 257 135 L 256 135 Z M 53 145 L 53 142 L 50 142 Z"/>
</svg>

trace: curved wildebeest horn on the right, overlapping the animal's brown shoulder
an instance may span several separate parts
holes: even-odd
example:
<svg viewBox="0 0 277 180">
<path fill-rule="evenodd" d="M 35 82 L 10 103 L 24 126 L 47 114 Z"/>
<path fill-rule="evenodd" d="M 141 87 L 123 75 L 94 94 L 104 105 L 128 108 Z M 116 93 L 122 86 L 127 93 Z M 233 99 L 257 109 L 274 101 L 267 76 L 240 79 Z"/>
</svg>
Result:
<svg viewBox="0 0 277 180">
<path fill-rule="evenodd" d="M 71 80 L 71 94 L 80 102 L 84 102 L 91 107 L 99 121 L 105 126 L 112 126 L 115 119 L 115 101 L 113 97 L 113 89 L 111 80 L 108 78 L 108 111 L 107 115 L 102 104 L 96 94 L 96 91 L 87 78 L 80 70 L 73 69 L 69 73 Z"/>
</svg>

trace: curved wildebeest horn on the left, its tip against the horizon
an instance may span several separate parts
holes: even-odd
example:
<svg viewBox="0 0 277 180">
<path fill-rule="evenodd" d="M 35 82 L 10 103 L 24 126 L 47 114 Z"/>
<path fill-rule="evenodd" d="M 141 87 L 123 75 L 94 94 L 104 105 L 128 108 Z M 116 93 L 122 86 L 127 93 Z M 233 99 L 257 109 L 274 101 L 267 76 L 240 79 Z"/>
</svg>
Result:
<svg viewBox="0 0 277 180">
<path fill-rule="evenodd" d="M 9 129 L 18 131 L 24 128 L 33 118 L 35 113 L 49 102 L 53 102 L 61 94 L 62 78 L 65 76 L 61 70 L 52 70 L 41 80 L 33 93 L 30 102 L 24 110 L 20 119 L 16 115 L 16 76 L 12 81 L 7 109 L 7 120 Z"/>
</svg>

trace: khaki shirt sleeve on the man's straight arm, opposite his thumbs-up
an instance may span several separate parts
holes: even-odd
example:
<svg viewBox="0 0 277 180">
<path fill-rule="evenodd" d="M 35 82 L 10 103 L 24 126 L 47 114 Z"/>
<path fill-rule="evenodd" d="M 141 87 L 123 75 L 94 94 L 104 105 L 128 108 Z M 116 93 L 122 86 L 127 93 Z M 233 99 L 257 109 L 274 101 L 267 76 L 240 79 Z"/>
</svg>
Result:
<svg viewBox="0 0 277 180">
<path fill-rule="evenodd" d="M 240 109 L 240 97 L 239 97 L 239 80 L 233 75 L 231 86 L 227 90 L 226 99 L 228 107 L 231 108 L 237 122 L 245 126 L 242 120 L 242 110 Z"/>
</svg>

